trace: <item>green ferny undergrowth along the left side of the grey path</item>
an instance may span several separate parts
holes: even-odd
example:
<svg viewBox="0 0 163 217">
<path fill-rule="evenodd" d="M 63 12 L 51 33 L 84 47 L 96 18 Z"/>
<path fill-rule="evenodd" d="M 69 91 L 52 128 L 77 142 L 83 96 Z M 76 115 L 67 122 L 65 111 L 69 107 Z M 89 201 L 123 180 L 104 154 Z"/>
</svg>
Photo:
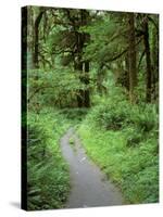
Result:
<svg viewBox="0 0 163 217">
<path fill-rule="evenodd" d="M 64 207 L 70 192 L 70 175 L 59 141 L 68 126 L 59 112 L 43 110 L 39 114 L 28 114 L 28 210 Z"/>
</svg>

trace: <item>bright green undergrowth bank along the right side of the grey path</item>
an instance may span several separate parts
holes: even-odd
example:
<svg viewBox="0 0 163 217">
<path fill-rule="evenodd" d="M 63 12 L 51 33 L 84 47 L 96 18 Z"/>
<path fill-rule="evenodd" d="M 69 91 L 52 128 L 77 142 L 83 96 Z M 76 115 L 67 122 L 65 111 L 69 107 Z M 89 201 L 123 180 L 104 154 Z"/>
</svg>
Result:
<svg viewBox="0 0 163 217">
<path fill-rule="evenodd" d="M 78 129 L 88 155 L 122 190 L 125 203 L 159 201 L 158 113 L 153 105 L 108 100 Z"/>
</svg>

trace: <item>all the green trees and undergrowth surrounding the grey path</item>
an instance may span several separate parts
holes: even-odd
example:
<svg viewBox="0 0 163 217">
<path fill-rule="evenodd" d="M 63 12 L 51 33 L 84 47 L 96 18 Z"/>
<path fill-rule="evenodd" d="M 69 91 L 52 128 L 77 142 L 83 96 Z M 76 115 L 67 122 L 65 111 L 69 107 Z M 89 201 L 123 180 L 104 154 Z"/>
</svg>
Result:
<svg viewBox="0 0 163 217">
<path fill-rule="evenodd" d="M 64 207 L 70 126 L 126 203 L 158 202 L 159 16 L 27 7 L 22 33 L 27 208 Z"/>
</svg>

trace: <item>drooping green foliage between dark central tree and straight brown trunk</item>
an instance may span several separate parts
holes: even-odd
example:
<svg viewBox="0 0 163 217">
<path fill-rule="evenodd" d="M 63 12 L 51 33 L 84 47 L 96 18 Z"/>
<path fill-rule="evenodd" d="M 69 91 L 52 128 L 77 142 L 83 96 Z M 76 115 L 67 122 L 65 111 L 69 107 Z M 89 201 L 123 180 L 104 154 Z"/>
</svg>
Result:
<svg viewBox="0 0 163 217">
<path fill-rule="evenodd" d="M 105 16 L 103 14 L 96 22 L 82 27 L 82 30 L 89 34 L 91 38 L 91 43 L 86 47 L 85 60 L 99 64 L 110 62 L 110 59 L 116 56 L 126 46 L 123 35 L 120 35 L 120 31 L 123 31 L 122 24 L 111 18 L 110 14 Z"/>
</svg>

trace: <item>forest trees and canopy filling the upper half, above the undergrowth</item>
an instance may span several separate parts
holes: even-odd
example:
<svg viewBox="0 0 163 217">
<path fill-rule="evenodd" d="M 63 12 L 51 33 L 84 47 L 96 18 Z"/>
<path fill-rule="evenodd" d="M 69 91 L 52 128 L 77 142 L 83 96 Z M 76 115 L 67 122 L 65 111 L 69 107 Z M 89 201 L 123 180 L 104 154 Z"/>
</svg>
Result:
<svg viewBox="0 0 163 217">
<path fill-rule="evenodd" d="M 35 92 L 46 94 L 55 89 L 52 97 L 57 106 L 68 92 L 61 106 L 68 103 L 89 107 L 93 104 L 90 99 L 93 92 L 109 92 L 104 81 L 110 72 L 130 102 L 158 100 L 159 16 L 155 14 L 32 7 L 27 49 L 29 73 L 34 79 L 39 77 L 29 89 L 28 100 L 35 99 Z"/>
</svg>

